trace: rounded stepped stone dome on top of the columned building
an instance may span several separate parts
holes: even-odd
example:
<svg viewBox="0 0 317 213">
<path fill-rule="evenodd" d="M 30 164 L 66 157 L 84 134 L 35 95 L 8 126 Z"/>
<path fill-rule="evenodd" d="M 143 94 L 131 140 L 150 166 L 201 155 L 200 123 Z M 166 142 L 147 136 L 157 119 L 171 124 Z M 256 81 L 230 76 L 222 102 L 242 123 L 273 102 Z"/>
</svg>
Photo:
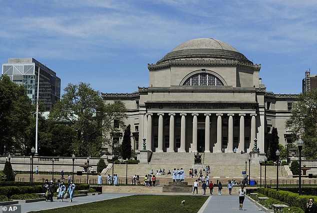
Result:
<svg viewBox="0 0 317 213">
<path fill-rule="evenodd" d="M 186 41 L 168 52 L 157 64 L 179 59 L 225 59 L 253 64 L 231 45 L 213 38 L 196 38 Z"/>
</svg>

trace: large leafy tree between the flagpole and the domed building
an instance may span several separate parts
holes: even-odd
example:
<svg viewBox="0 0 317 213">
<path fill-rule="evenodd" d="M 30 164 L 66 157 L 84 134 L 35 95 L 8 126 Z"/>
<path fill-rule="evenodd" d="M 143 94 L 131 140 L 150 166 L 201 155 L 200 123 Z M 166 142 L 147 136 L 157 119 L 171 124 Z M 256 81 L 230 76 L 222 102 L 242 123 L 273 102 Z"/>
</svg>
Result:
<svg viewBox="0 0 317 213">
<path fill-rule="evenodd" d="M 78 157 L 99 156 L 101 145 L 109 142 L 106 138 L 113 128 L 113 120 L 121 126 L 126 118 L 122 102 L 104 104 L 99 91 L 94 91 L 89 84 L 68 84 L 59 102 L 49 114 L 49 120 L 70 126 L 76 134 L 71 149 Z M 64 140 L 64 139 L 61 139 Z"/>
</svg>

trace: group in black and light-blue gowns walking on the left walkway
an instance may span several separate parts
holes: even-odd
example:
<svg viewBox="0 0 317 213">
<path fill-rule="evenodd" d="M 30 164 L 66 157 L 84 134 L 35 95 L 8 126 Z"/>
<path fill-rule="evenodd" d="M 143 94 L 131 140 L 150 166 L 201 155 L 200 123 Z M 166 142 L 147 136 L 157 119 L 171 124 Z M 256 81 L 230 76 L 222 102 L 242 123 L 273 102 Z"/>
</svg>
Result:
<svg viewBox="0 0 317 213">
<path fill-rule="evenodd" d="M 72 183 L 72 180 L 70 180 L 67 190 L 66 186 L 64 185 L 63 181 L 58 180 L 57 181 L 57 198 L 60 198 L 61 201 L 63 202 L 63 199 L 66 199 L 69 197 L 69 202 L 72 202 L 74 190 L 75 190 L 75 184 Z M 53 202 L 53 195 L 55 192 L 55 185 L 53 181 L 48 182 L 48 180 L 45 180 L 45 183 L 43 184 L 43 190 L 45 192 L 45 201 L 50 201 Z"/>
</svg>

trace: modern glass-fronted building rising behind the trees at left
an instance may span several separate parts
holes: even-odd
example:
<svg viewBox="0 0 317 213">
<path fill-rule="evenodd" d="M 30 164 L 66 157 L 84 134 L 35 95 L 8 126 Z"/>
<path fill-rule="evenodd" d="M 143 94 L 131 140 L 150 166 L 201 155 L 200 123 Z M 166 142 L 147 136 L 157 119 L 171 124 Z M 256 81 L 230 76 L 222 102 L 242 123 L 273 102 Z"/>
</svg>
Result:
<svg viewBox="0 0 317 213">
<path fill-rule="evenodd" d="M 39 69 L 39 102 L 45 106 L 45 111 L 60 99 L 60 78 L 56 73 L 34 58 L 9 58 L 2 64 L 2 75 L 8 75 L 11 81 L 23 85 L 32 104 L 37 99 L 37 74 Z"/>
</svg>

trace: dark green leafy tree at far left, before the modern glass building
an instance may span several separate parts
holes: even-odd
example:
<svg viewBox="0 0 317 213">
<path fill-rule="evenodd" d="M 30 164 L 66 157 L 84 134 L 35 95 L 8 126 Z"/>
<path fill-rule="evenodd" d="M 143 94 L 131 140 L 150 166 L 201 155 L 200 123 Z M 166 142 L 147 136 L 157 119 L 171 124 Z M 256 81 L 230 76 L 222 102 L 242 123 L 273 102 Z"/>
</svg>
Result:
<svg viewBox="0 0 317 213">
<path fill-rule="evenodd" d="M 30 144 L 35 107 L 23 86 L 0 78 L 0 152 L 25 154 Z M 35 123 L 34 123 L 35 124 Z M 34 136 L 33 136 L 34 137 Z"/>
</svg>

